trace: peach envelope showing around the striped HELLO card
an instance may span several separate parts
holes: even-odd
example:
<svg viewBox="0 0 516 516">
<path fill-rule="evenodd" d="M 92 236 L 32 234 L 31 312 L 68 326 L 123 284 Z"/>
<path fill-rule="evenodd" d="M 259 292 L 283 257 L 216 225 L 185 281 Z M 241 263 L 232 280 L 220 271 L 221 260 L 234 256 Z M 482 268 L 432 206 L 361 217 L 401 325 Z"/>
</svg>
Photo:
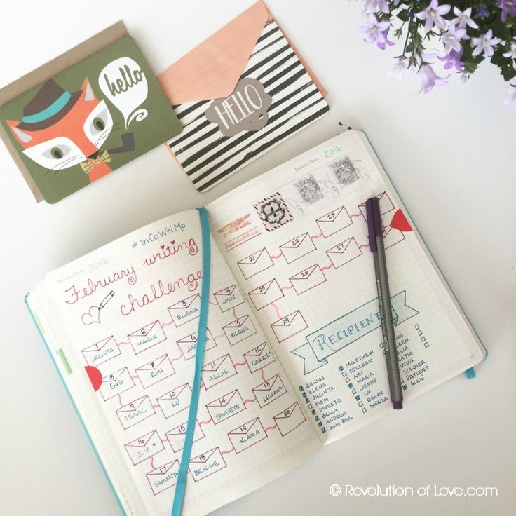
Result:
<svg viewBox="0 0 516 516">
<path fill-rule="evenodd" d="M 165 69 L 158 75 L 158 82 L 170 103 L 185 104 L 231 95 L 269 20 L 273 20 L 273 15 L 262 1 L 258 1 Z M 285 39 L 325 96 L 325 88 L 286 35 Z"/>
</svg>

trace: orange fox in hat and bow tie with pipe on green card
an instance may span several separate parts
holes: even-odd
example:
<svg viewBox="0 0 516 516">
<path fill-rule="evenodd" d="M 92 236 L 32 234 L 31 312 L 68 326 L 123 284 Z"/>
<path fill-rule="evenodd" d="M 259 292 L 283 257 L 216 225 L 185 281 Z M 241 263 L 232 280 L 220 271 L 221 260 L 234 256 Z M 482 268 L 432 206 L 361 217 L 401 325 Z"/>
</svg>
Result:
<svg viewBox="0 0 516 516">
<path fill-rule="evenodd" d="M 135 148 L 133 133 L 125 133 L 121 147 L 100 151 L 111 132 L 124 127 L 113 123 L 106 102 L 95 97 L 88 78 L 73 93 L 46 81 L 24 107 L 22 120 L 7 124 L 23 154 L 47 173 L 81 165 L 90 183 L 111 172 L 111 154 Z"/>
</svg>

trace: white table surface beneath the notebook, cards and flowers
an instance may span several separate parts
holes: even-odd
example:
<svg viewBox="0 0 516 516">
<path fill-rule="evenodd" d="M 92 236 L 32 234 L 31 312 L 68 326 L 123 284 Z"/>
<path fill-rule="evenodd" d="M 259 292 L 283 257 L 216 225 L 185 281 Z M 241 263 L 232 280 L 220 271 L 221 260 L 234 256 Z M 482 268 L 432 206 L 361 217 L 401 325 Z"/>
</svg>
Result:
<svg viewBox="0 0 516 516">
<path fill-rule="evenodd" d="M 252 0 L 11 1 L 0 17 L 0 86 L 123 20 L 156 73 Z M 297 4 L 294 7 L 294 4 Z M 0 145 L 0 514 L 117 515 L 100 466 L 23 306 L 46 272 L 137 227 L 193 208 L 344 126 L 363 128 L 489 349 L 459 376 L 346 437 L 217 515 L 514 515 L 516 503 L 516 109 L 482 64 L 414 95 L 386 75 L 393 50 L 363 43 L 357 1 L 269 0 L 327 90 L 330 114 L 206 194 L 164 146 L 56 205 L 36 204 Z M 384 442 L 398 436 L 395 455 Z M 495 487 L 489 497 L 332 497 L 331 484 Z M 432 488 L 433 489 L 433 488 Z"/>
</svg>

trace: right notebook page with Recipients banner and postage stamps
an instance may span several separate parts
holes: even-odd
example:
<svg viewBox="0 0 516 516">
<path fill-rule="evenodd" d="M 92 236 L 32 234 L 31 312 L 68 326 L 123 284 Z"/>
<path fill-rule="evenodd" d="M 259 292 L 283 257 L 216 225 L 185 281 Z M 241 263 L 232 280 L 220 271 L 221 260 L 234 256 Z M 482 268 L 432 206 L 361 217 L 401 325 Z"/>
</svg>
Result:
<svg viewBox="0 0 516 516">
<path fill-rule="evenodd" d="M 392 410 L 367 198 L 380 199 L 405 400 L 484 355 L 380 168 L 348 131 L 208 206 L 219 247 L 323 442 Z"/>
</svg>

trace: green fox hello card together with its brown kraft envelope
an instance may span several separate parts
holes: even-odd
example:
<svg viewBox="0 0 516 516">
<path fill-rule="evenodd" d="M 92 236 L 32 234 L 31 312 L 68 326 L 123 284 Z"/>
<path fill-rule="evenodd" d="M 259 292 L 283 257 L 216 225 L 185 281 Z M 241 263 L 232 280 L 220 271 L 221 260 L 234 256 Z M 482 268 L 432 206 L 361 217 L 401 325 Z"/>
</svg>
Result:
<svg viewBox="0 0 516 516">
<path fill-rule="evenodd" d="M 1 88 L 0 138 L 56 203 L 182 130 L 122 22 Z"/>
</svg>

